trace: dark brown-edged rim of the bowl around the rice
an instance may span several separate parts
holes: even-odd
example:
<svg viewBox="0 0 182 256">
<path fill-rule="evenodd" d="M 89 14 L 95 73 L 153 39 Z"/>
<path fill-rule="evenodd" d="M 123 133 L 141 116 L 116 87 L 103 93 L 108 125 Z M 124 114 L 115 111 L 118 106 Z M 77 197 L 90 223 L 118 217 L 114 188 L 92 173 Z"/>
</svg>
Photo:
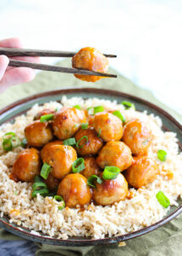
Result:
<svg viewBox="0 0 182 256">
<path fill-rule="evenodd" d="M 179 122 L 173 118 L 172 115 L 170 115 L 168 112 L 166 112 L 164 109 L 156 106 L 155 104 L 145 101 L 143 98 L 139 98 L 138 96 L 133 96 L 127 93 L 123 93 L 117 90 L 107 90 L 107 89 L 97 89 L 97 88 L 71 88 L 71 87 L 66 87 L 61 90 L 48 90 L 42 93 L 38 93 L 32 96 L 27 96 L 25 98 L 20 99 L 19 101 L 13 102 L 6 106 L 5 108 L 0 110 L 0 117 L 3 113 L 7 113 L 9 110 L 13 110 L 14 108 L 20 106 L 21 104 L 24 104 L 26 102 L 31 102 L 34 101 L 35 99 L 46 97 L 46 96 L 55 96 L 55 95 L 69 95 L 72 93 L 77 93 L 77 92 L 84 92 L 84 93 L 96 93 L 98 95 L 107 95 L 107 96 L 121 96 L 125 97 L 128 100 L 134 100 L 135 102 L 140 102 L 143 103 L 150 108 L 154 108 L 156 111 L 162 113 L 167 119 L 169 119 L 171 122 L 173 122 L 174 125 L 179 128 L 179 130 L 182 131 L 182 125 L 179 124 Z M 20 115 L 20 113 L 18 114 Z M 12 118 L 11 118 L 12 119 Z M 7 119 L 5 122 L 9 121 Z M 173 212 L 171 212 L 168 216 L 165 218 L 162 218 L 162 220 L 156 222 L 155 224 L 152 224 L 148 227 L 145 227 L 143 229 L 124 234 L 121 236 L 111 236 L 111 237 L 105 237 L 105 238 L 100 238 L 100 239 L 87 239 L 82 237 L 76 237 L 76 238 L 68 238 L 68 239 L 58 239 L 50 236 L 37 236 L 31 233 L 31 230 L 26 231 L 25 228 L 22 230 L 21 226 L 18 226 L 16 224 L 10 224 L 9 219 L 7 218 L 7 221 L 4 221 L 2 218 L 0 218 L 0 226 L 4 230 L 8 230 L 10 233 L 13 233 L 16 236 L 20 236 L 22 238 L 26 238 L 31 241 L 37 241 L 41 243 L 47 243 L 47 244 L 52 244 L 52 245 L 60 245 L 60 246 L 69 246 L 69 247 L 85 247 L 85 246 L 95 246 L 95 245 L 104 245 L 104 244 L 109 244 L 109 243 L 117 243 L 119 241 L 127 241 L 129 239 L 133 239 L 134 237 L 142 236 L 145 235 L 153 230 L 156 230 L 159 227 L 162 227 L 162 225 L 167 224 L 170 222 L 173 218 L 177 217 L 180 213 L 182 213 L 182 205 L 177 207 Z"/>
</svg>

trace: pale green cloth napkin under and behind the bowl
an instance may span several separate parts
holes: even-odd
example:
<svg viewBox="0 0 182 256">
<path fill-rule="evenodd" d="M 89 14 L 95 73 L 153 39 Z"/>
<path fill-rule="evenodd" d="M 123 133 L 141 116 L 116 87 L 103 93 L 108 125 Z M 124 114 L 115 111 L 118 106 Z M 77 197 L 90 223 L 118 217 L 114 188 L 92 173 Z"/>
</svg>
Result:
<svg viewBox="0 0 182 256">
<path fill-rule="evenodd" d="M 58 63 L 64 67 L 70 67 L 71 61 L 64 60 Z M 116 71 L 110 69 L 110 73 Z M 117 79 L 101 79 L 96 83 L 82 82 L 75 79 L 71 74 L 43 72 L 38 73 L 36 79 L 28 84 L 20 84 L 9 88 L 0 95 L 0 108 L 5 107 L 9 103 L 19 100 L 20 98 L 31 96 L 38 92 L 46 90 L 59 90 L 65 87 L 95 87 L 110 90 L 118 90 L 129 93 L 134 96 L 144 98 L 149 102 L 155 103 L 157 106 L 164 108 L 171 113 L 175 119 L 182 123 L 182 117 L 172 109 L 163 105 L 162 102 L 156 100 L 149 90 L 143 90 L 137 87 L 130 80 L 118 74 Z M 21 240 L 22 238 L 9 234 L 9 232 L 1 229 L 0 239 L 3 240 Z M 23 240 L 23 239 L 22 239 Z M 126 241 L 126 246 L 118 247 L 118 244 L 98 246 L 98 247 L 60 247 L 47 244 L 37 244 L 37 256 L 78 256 L 78 255 L 107 255 L 107 256 L 162 256 L 162 255 L 182 255 L 182 216 L 173 219 L 169 224 L 165 224 L 162 228 L 152 231 L 151 233 Z"/>
</svg>

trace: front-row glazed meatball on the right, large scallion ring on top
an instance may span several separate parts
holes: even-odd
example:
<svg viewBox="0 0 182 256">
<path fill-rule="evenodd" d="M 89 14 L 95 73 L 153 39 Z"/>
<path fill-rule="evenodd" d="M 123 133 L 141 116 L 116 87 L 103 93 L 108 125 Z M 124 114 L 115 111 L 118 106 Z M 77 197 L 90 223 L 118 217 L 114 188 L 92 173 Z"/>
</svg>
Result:
<svg viewBox="0 0 182 256">
<path fill-rule="evenodd" d="M 128 195 L 128 183 L 125 177 L 119 173 L 117 178 L 96 183 L 93 198 L 101 206 L 108 206 L 117 201 L 124 200 Z"/>
</svg>

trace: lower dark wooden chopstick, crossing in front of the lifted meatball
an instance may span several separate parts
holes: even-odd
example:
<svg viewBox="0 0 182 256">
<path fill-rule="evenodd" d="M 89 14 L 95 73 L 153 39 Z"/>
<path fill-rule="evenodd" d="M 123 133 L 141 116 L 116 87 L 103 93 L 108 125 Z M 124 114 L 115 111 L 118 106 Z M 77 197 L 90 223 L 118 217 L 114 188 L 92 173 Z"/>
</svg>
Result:
<svg viewBox="0 0 182 256">
<path fill-rule="evenodd" d="M 9 60 L 9 66 L 10 67 L 31 67 L 33 69 L 47 70 L 47 71 L 60 72 L 60 73 L 78 73 L 78 74 L 94 75 L 94 76 L 100 76 L 100 77 L 106 77 L 106 78 L 117 78 L 117 75 L 110 74 L 110 73 L 100 73 L 100 72 L 94 72 L 94 71 L 70 68 L 70 67 L 51 66 L 51 65 L 38 64 L 38 63 L 33 63 L 28 61 Z"/>
</svg>

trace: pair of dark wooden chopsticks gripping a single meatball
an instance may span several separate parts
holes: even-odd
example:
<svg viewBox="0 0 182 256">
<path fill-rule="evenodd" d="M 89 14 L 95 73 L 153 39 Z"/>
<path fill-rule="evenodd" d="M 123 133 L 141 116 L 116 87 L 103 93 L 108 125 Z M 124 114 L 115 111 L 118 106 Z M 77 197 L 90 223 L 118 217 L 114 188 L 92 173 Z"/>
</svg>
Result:
<svg viewBox="0 0 182 256">
<path fill-rule="evenodd" d="M 60 50 L 43 50 L 43 49 L 14 49 L 14 48 L 1 48 L 0 55 L 7 55 L 9 58 L 14 56 L 41 56 L 41 57 L 72 57 L 76 52 L 60 51 Z M 105 55 L 106 57 L 116 58 L 117 55 Z M 60 73 L 77 73 L 84 75 L 94 75 L 107 78 L 117 78 L 117 75 L 110 73 L 100 73 L 84 69 L 58 67 L 45 64 L 38 64 L 28 61 L 14 61 L 9 60 L 10 67 L 31 67 L 33 69 L 47 70 Z"/>
</svg>

